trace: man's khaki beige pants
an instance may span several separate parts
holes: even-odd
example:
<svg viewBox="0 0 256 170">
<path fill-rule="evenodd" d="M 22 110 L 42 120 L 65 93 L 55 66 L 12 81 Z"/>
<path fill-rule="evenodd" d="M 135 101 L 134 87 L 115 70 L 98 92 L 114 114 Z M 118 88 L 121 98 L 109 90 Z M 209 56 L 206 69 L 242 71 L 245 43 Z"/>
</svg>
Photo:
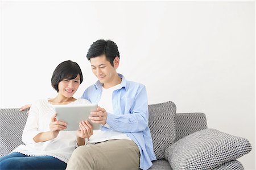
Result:
<svg viewBox="0 0 256 170">
<path fill-rule="evenodd" d="M 108 140 L 80 146 L 73 152 L 67 169 L 139 169 L 139 148 L 133 140 Z"/>
</svg>

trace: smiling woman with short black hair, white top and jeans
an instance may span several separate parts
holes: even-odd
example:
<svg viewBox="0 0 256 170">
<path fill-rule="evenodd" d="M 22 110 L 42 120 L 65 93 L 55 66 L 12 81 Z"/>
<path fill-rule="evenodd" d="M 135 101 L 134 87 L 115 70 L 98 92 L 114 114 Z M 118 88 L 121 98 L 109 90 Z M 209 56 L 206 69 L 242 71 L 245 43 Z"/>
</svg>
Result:
<svg viewBox="0 0 256 170">
<path fill-rule="evenodd" d="M 71 60 L 60 63 L 52 74 L 52 87 L 57 96 L 41 99 L 31 105 L 20 145 L 11 154 L 0 158 L 0 169 L 65 169 L 69 157 L 77 146 L 93 134 L 88 121 L 79 123 L 78 131 L 62 131 L 65 122 L 56 120 L 53 105 L 89 103 L 76 99 L 73 94 L 82 82 L 79 65 Z M 72 113 L 71 113 L 72 114 Z"/>
</svg>

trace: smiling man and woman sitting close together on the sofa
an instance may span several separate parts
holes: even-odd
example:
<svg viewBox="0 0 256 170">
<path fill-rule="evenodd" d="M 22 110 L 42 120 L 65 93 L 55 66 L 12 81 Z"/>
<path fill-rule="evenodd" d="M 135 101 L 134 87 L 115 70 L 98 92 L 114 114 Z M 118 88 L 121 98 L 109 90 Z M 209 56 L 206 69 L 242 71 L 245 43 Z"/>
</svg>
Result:
<svg viewBox="0 0 256 170">
<path fill-rule="evenodd" d="M 144 85 L 126 81 L 117 73 L 119 52 L 110 40 L 97 40 L 87 59 L 98 78 L 76 99 L 83 77 L 73 61 L 60 63 L 52 74 L 57 96 L 31 105 L 20 145 L 0 158 L 0 169 L 148 169 L 156 160 L 148 128 Z M 86 120 L 77 131 L 62 131 L 53 105 L 97 103 L 89 119 L 101 124 L 94 130 Z M 22 108 L 24 110 L 26 108 Z M 72 114 L 72 113 L 71 113 Z"/>
</svg>

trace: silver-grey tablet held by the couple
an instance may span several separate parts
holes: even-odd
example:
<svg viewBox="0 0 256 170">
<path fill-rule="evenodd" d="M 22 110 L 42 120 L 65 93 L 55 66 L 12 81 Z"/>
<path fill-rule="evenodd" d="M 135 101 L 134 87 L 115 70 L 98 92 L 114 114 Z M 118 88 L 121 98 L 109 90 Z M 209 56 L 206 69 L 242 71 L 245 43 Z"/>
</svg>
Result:
<svg viewBox="0 0 256 170">
<path fill-rule="evenodd" d="M 97 104 L 88 103 L 80 105 L 53 105 L 57 115 L 58 121 L 67 122 L 67 128 L 65 131 L 79 130 L 79 122 L 88 120 L 90 125 L 93 126 L 93 130 L 99 130 L 100 124 L 92 123 L 88 117 L 90 112 L 96 110 Z"/>
</svg>

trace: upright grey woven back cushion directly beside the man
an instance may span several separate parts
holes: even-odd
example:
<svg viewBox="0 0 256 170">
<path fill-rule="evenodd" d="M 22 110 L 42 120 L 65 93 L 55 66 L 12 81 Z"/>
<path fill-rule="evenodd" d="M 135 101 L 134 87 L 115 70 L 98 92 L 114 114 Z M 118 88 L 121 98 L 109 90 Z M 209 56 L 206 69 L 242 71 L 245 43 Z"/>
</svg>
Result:
<svg viewBox="0 0 256 170">
<path fill-rule="evenodd" d="M 164 151 L 175 140 L 176 106 L 173 102 L 148 105 L 148 127 L 157 159 L 164 158 Z"/>
</svg>

